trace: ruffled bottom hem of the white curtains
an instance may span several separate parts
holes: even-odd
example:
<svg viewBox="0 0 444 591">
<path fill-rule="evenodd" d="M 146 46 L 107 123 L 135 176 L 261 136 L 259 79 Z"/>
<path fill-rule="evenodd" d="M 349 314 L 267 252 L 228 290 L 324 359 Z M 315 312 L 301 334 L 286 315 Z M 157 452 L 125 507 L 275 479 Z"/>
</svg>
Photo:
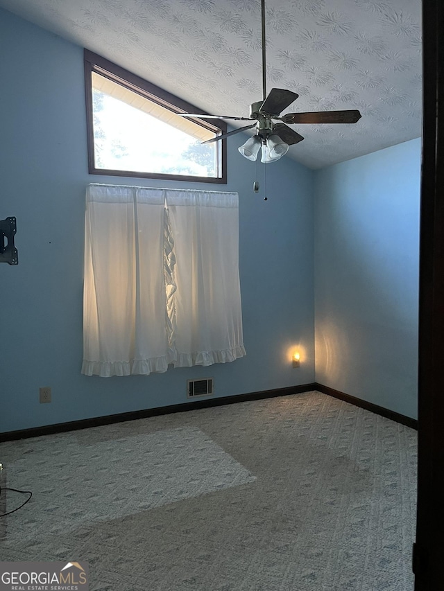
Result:
<svg viewBox="0 0 444 591">
<path fill-rule="evenodd" d="M 82 362 L 82 372 L 85 376 L 148 376 L 150 373 L 164 373 L 169 363 L 173 367 L 204 367 L 214 363 L 229 363 L 246 355 L 244 345 L 223 349 L 221 351 L 198 351 L 196 353 L 176 353 L 167 357 L 153 359 L 134 359 L 130 361 L 89 361 Z"/>
</svg>

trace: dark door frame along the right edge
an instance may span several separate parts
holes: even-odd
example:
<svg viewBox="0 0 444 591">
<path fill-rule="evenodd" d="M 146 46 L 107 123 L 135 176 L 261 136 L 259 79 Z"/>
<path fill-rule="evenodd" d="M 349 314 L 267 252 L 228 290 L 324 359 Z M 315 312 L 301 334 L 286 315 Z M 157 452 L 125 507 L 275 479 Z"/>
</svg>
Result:
<svg viewBox="0 0 444 591">
<path fill-rule="evenodd" d="M 444 590 L 444 1 L 422 0 L 415 591 Z"/>
</svg>

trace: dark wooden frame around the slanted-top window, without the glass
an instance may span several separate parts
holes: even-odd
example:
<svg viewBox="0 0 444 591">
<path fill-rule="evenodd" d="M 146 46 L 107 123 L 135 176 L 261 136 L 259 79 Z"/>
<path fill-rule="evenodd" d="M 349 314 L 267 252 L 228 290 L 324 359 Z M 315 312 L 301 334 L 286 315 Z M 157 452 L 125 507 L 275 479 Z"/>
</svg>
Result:
<svg viewBox="0 0 444 591">
<path fill-rule="evenodd" d="M 192 175 L 169 175 L 167 173 L 142 173 L 134 170 L 112 170 L 109 168 L 96 168 L 94 159 L 94 124 L 93 124 L 93 106 L 92 106 L 92 73 L 99 73 L 113 82 L 122 85 L 123 87 L 141 95 L 148 100 L 152 100 L 157 105 L 170 109 L 174 113 L 195 113 L 209 115 L 210 113 L 203 112 L 202 109 L 194 107 L 187 101 L 178 98 L 164 89 L 151 84 L 148 80 L 140 78 L 136 74 L 102 58 L 101 55 L 92 53 L 88 49 L 84 49 L 84 66 L 85 66 L 85 100 L 86 100 L 86 123 L 87 123 L 87 148 L 88 148 L 88 170 L 90 175 L 105 175 L 118 177 L 136 177 L 142 179 L 165 179 L 173 181 L 186 182 L 201 182 L 201 183 L 227 183 L 227 141 L 220 140 L 218 149 L 220 150 L 220 177 L 197 177 Z M 193 118 L 192 121 L 202 125 L 205 129 L 214 133 L 225 134 L 227 132 L 227 124 L 222 119 L 206 120 L 205 118 Z"/>
</svg>

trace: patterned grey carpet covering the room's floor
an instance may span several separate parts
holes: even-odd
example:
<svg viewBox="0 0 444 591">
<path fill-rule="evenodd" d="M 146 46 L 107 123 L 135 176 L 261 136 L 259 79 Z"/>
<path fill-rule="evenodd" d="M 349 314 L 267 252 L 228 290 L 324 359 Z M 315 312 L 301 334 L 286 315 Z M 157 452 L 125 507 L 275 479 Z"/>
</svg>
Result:
<svg viewBox="0 0 444 591">
<path fill-rule="evenodd" d="M 411 591 L 416 432 L 318 392 L 0 444 L 0 561 L 90 591 Z M 26 498 L 26 497 L 25 497 Z M 2 491 L 0 513 L 22 495 Z"/>
</svg>

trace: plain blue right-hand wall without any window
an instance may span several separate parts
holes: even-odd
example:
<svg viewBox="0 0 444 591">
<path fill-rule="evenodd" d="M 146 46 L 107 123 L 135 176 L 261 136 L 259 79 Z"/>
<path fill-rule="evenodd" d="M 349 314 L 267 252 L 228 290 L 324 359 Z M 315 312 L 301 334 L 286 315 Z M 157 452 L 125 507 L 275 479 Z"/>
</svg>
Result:
<svg viewBox="0 0 444 591">
<path fill-rule="evenodd" d="M 415 418 L 420 148 L 315 180 L 316 381 Z"/>
</svg>

